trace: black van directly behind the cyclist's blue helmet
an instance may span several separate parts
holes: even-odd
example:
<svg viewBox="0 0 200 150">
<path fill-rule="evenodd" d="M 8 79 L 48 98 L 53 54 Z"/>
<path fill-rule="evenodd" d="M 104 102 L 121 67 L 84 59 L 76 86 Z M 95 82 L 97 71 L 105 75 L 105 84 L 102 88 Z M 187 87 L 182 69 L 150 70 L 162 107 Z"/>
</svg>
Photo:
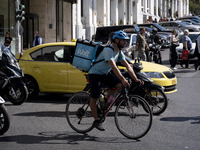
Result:
<svg viewBox="0 0 200 150">
<path fill-rule="evenodd" d="M 119 31 L 119 30 L 124 30 L 124 31 L 127 30 L 125 32 L 138 33 L 140 29 L 137 25 L 119 25 L 119 26 L 98 27 L 96 29 L 94 41 L 95 42 L 100 41 L 105 44 L 109 41 L 110 33 Z"/>
</svg>

